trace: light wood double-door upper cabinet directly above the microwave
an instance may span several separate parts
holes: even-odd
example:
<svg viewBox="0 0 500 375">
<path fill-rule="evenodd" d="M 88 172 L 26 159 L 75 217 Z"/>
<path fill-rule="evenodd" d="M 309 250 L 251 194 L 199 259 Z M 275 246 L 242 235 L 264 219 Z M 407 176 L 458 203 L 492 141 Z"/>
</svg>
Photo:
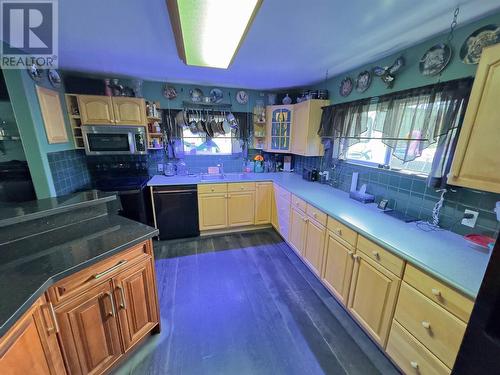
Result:
<svg viewBox="0 0 500 375">
<path fill-rule="evenodd" d="M 146 125 L 141 98 L 78 95 L 82 125 Z"/>
</svg>

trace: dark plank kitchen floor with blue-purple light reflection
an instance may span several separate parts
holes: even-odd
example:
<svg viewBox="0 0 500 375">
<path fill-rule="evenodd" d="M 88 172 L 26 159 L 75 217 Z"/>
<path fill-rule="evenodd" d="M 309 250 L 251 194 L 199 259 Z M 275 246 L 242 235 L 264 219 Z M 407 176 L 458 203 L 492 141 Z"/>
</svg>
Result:
<svg viewBox="0 0 500 375">
<path fill-rule="evenodd" d="M 398 374 L 273 230 L 155 256 L 162 332 L 116 374 Z"/>
</svg>

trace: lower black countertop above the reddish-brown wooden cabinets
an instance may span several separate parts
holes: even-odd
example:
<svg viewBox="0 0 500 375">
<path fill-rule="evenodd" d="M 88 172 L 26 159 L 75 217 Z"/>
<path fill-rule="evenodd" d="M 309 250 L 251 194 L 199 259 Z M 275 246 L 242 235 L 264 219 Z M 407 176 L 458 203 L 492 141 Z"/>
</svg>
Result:
<svg viewBox="0 0 500 375">
<path fill-rule="evenodd" d="M 0 246 L 0 337 L 56 281 L 157 234 L 104 215 Z"/>
</svg>

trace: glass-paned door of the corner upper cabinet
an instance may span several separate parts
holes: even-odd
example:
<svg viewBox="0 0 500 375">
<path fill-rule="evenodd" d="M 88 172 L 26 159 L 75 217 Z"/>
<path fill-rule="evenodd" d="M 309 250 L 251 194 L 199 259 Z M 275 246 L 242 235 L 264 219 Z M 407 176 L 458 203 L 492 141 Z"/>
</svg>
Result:
<svg viewBox="0 0 500 375">
<path fill-rule="evenodd" d="M 289 153 L 293 106 L 268 106 L 266 110 L 267 134 L 269 134 L 268 151 Z"/>
</svg>

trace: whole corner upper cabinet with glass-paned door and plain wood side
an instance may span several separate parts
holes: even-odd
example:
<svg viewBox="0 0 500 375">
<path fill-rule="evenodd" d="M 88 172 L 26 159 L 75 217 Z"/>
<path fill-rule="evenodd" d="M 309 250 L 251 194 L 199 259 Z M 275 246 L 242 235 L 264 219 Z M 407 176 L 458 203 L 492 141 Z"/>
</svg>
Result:
<svg viewBox="0 0 500 375">
<path fill-rule="evenodd" d="M 307 100 L 292 105 L 273 105 L 266 108 L 266 151 L 322 156 L 323 145 L 318 136 L 321 107 L 328 100 Z"/>
</svg>

